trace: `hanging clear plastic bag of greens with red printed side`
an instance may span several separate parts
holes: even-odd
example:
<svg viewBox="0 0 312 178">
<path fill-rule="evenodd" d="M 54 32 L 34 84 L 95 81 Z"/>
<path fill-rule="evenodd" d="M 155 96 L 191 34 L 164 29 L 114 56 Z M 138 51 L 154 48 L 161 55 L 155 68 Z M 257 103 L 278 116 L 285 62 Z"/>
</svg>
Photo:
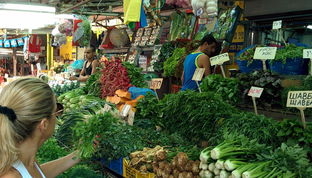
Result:
<svg viewBox="0 0 312 178">
<path fill-rule="evenodd" d="M 75 16 L 72 46 L 90 47 L 91 22 L 85 15 Z"/>
</svg>

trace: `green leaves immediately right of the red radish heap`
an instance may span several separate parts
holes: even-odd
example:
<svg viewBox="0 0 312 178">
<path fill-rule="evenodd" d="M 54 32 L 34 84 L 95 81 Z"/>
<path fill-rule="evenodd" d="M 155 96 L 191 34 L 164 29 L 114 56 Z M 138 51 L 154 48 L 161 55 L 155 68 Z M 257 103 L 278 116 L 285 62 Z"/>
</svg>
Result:
<svg viewBox="0 0 312 178">
<path fill-rule="evenodd" d="M 127 68 L 128 77 L 130 79 L 130 83 L 138 88 L 148 88 L 147 82 L 144 81 L 144 75 L 141 73 L 143 68 L 135 67 L 130 62 L 121 62 L 123 67 Z"/>
</svg>

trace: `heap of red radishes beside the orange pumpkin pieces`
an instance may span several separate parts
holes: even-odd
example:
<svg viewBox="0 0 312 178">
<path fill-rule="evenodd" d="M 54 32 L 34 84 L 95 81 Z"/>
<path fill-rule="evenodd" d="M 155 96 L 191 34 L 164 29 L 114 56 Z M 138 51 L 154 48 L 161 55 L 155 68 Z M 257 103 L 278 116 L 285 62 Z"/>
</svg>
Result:
<svg viewBox="0 0 312 178">
<path fill-rule="evenodd" d="M 104 68 L 100 70 L 102 98 L 114 96 L 117 90 L 128 91 L 132 85 L 128 77 L 127 68 L 122 67 L 121 60 L 112 57 L 111 61 L 104 61 Z"/>
</svg>

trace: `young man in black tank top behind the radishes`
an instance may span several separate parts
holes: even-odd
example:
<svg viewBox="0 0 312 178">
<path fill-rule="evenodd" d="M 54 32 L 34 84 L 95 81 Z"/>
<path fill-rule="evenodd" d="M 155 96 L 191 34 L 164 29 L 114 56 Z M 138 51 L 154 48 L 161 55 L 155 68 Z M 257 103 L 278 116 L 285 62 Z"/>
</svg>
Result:
<svg viewBox="0 0 312 178">
<path fill-rule="evenodd" d="M 86 82 L 90 75 L 97 72 L 96 67 L 99 67 L 100 61 L 95 59 L 95 47 L 90 45 L 90 48 L 85 48 L 85 58 L 87 59 L 82 67 L 79 78 L 71 76 L 70 80 L 77 80 L 79 82 Z"/>
</svg>

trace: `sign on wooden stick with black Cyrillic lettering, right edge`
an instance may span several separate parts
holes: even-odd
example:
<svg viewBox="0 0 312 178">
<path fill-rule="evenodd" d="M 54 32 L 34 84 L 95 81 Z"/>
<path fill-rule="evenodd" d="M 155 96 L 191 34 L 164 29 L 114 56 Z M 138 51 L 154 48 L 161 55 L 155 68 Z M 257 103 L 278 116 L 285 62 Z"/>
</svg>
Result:
<svg viewBox="0 0 312 178">
<path fill-rule="evenodd" d="M 312 107 L 312 91 L 289 91 L 286 106 L 296 107 L 300 110 L 303 128 L 306 129 L 303 110 L 307 107 Z"/>
</svg>

